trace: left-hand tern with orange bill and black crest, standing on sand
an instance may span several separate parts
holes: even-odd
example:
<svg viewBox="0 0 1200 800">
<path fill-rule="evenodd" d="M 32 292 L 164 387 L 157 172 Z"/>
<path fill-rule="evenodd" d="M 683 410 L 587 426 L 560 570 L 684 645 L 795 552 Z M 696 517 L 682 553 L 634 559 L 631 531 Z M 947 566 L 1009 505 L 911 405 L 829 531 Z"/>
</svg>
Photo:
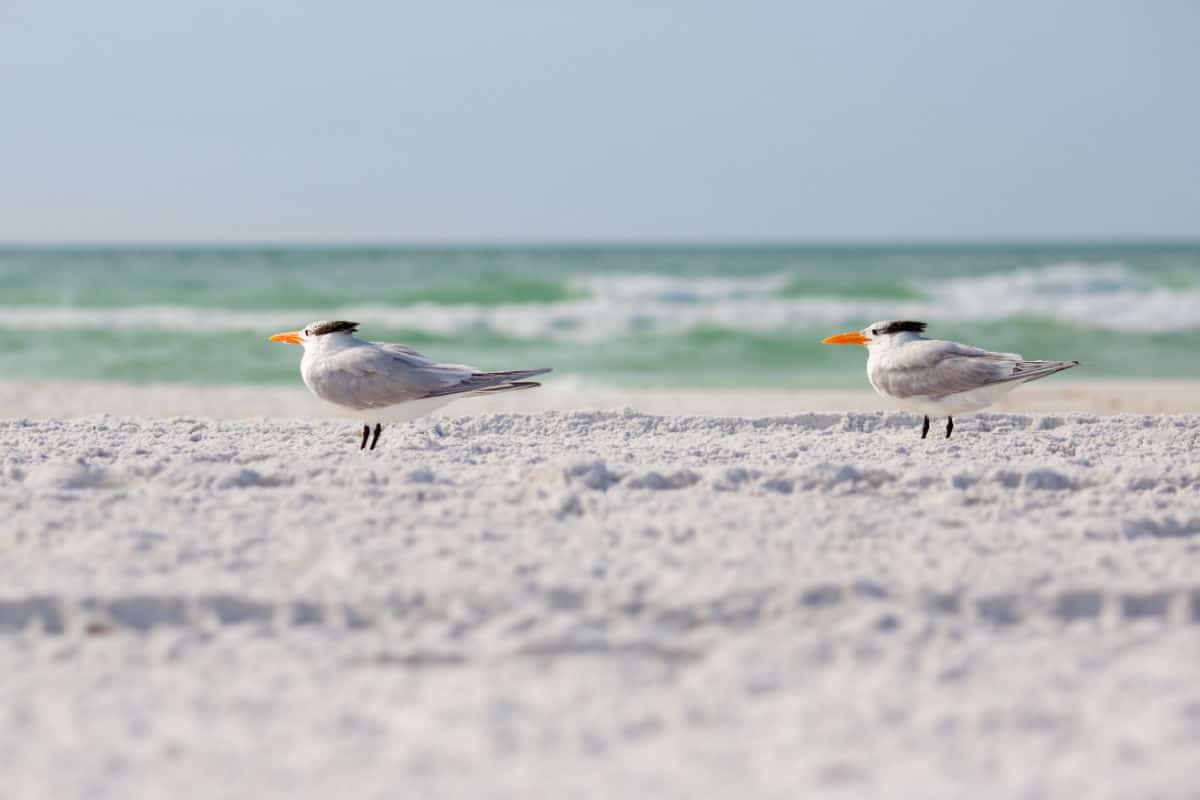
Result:
<svg viewBox="0 0 1200 800">
<path fill-rule="evenodd" d="M 300 377 L 313 395 L 364 421 L 367 446 L 371 422 L 379 443 L 383 422 L 412 420 L 460 397 L 494 395 L 541 384 L 526 380 L 550 369 L 480 372 L 460 363 L 437 363 L 403 344 L 367 342 L 354 336 L 358 323 L 310 323 L 304 330 L 270 337 L 271 342 L 304 345 Z"/>
</svg>

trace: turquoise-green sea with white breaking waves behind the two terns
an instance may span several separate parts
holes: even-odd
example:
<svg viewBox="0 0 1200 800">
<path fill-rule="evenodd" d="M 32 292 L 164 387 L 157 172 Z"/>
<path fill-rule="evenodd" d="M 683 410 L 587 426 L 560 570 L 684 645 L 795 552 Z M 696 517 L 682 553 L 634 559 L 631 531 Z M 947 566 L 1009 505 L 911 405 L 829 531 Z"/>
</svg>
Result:
<svg viewBox="0 0 1200 800">
<path fill-rule="evenodd" d="M 876 319 L 1078 378 L 1200 378 L 1200 245 L 0 248 L 0 374 L 292 383 L 270 333 L 352 319 L 484 368 L 857 386 Z"/>
</svg>

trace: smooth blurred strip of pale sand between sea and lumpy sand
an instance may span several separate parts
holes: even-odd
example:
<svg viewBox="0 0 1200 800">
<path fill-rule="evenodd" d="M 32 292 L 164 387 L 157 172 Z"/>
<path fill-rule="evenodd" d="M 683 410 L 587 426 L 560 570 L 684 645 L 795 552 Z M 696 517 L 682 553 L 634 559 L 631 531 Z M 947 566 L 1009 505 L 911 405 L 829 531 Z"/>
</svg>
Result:
<svg viewBox="0 0 1200 800">
<path fill-rule="evenodd" d="M 540 389 L 463 398 L 432 416 L 634 409 L 665 416 L 779 416 L 805 411 L 892 411 L 870 389 L 616 389 L 551 377 Z M 985 413 L 1198 414 L 1200 380 L 1055 381 L 1021 386 Z M 191 385 L 0 380 L 0 419 L 82 416 L 344 419 L 300 384 Z"/>
</svg>

